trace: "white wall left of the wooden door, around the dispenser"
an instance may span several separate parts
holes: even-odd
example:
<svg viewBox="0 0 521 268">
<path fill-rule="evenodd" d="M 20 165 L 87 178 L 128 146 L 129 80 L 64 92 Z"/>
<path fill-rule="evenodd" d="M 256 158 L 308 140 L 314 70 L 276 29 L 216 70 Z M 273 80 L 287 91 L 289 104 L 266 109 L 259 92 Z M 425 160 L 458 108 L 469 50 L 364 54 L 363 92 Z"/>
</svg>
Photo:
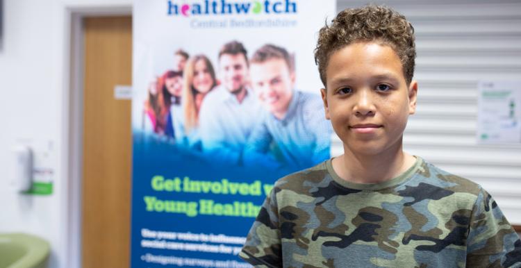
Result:
<svg viewBox="0 0 521 268">
<path fill-rule="evenodd" d="M 130 7 L 132 0 L 3 0 L 0 45 L 0 233 L 49 240 L 50 267 L 76 267 L 69 243 L 69 43 L 72 12 Z M 101 8 L 101 10 L 104 10 Z M 47 154 L 54 192 L 28 196 L 8 187 L 10 147 L 31 144 Z M 40 161 L 41 162 L 41 161 Z M 73 256 L 73 258 L 67 258 Z"/>
</svg>

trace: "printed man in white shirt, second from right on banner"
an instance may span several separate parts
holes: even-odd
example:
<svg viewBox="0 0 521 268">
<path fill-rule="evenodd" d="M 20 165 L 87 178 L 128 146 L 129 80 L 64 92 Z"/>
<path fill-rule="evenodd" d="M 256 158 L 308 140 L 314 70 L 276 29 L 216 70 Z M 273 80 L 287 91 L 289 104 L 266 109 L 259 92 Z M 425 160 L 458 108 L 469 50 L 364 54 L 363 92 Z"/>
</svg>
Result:
<svg viewBox="0 0 521 268">
<path fill-rule="evenodd" d="M 201 105 L 201 142 L 204 153 L 219 164 L 240 165 L 241 154 L 260 110 L 247 88 L 247 51 L 231 41 L 219 53 L 221 85 Z"/>
</svg>

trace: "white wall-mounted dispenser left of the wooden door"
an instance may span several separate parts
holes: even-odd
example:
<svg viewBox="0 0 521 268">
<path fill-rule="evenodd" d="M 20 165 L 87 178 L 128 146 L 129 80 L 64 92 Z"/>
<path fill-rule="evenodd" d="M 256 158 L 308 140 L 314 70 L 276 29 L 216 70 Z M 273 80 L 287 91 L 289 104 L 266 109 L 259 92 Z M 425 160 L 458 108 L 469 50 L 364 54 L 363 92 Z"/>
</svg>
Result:
<svg viewBox="0 0 521 268">
<path fill-rule="evenodd" d="M 25 145 L 13 147 L 11 156 L 13 172 L 10 176 L 10 185 L 16 192 L 26 192 L 33 184 L 33 151 Z"/>
</svg>

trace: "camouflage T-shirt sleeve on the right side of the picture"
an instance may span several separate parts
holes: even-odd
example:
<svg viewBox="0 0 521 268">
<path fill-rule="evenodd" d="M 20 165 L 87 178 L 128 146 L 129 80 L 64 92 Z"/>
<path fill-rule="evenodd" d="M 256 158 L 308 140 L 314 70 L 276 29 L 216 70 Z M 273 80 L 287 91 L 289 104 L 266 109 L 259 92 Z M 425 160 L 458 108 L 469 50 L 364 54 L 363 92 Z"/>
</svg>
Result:
<svg viewBox="0 0 521 268">
<path fill-rule="evenodd" d="M 467 267 L 521 267 L 521 241 L 493 197 L 477 196 L 467 240 Z"/>
</svg>

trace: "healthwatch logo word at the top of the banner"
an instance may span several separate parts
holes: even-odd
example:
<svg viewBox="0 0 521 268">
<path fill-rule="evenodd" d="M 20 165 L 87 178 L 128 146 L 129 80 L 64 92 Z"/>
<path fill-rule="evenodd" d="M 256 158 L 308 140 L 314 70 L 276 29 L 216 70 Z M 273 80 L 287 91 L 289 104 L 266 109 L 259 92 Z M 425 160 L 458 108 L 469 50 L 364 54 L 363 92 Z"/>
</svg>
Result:
<svg viewBox="0 0 521 268">
<path fill-rule="evenodd" d="M 168 1 L 168 15 L 231 15 L 231 14 L 288 14 L 297 13 L 295 1 L 240 1 L 204 0 L 198 3 L 176 3 Z"/>
</svg>

